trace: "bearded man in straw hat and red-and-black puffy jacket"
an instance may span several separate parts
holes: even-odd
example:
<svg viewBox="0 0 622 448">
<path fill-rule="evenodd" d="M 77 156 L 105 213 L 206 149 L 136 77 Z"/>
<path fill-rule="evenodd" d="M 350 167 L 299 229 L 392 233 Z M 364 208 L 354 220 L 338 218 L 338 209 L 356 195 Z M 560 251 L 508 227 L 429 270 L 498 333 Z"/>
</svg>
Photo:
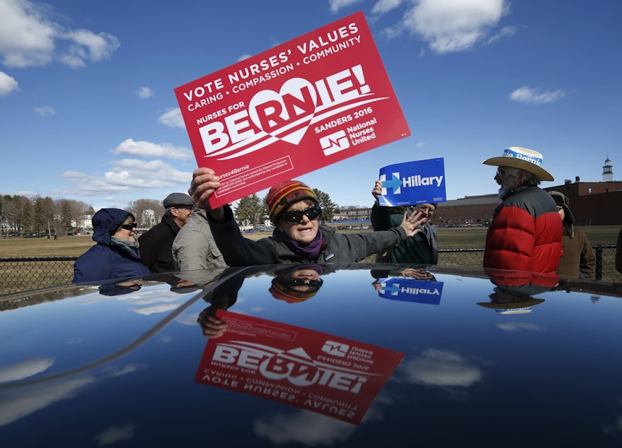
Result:
<svg viewBox="0 0 622 448">
<path fill-rule="evenodd" d="M 551 195 L 538 187 L 553 180 L 541 167 L 541 153 L 512 146 L 483 164 L 498 167 L 502 200 L 486 234 L 484 267 L 555 273 L 563 254 L 562 220 Z"/>
</svg>

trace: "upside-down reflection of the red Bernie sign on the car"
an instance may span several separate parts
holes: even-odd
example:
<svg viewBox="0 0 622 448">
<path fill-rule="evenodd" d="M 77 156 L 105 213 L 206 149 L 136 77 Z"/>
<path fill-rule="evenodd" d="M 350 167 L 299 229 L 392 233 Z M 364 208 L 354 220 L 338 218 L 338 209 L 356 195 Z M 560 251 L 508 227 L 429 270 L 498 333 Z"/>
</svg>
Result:
<svg viewBox="0 0 622 448">
<path fill-rule="evenodd" d="M 280 401 L 355 425 L 404 353 L 224 310 L 195 382 Z"/>
</svg>

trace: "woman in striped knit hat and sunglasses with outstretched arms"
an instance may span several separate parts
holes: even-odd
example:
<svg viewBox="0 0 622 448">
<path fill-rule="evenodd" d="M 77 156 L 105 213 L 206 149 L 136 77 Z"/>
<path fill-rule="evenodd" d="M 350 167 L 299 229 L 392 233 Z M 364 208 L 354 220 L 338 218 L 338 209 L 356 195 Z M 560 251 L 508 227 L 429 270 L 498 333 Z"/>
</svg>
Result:
<svg viewBox="0 0 622 448">
<path fill-rule="evenodd" d="M 289 180 L 272 187 L 266 196 L 275 231 L 271 237 L 253 241 L 241 235 L 229 206 L 209 206 L 209 196 L 219 187 L 213 170 L 197 168 L 192 173 L 188 194 L 199 208 L 209 211 L 212 235 L 228 266 L 353 263 L 421 232 L 417 227 L 423 223 L 421 213 L 413 213 L 408 218 L 404 216 L 402 224 L 391 230 L 337 233 L 319 224 L 322 209 L 313 189 Z"/>
</svg>

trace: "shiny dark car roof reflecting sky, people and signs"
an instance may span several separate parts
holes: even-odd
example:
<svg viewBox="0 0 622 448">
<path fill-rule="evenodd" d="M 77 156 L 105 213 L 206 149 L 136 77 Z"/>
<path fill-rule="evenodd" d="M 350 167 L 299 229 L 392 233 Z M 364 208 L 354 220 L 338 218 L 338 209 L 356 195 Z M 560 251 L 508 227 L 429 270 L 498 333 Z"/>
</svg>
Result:
<svg viewBox="0 0 622 448">
<path fill-rule="evenodd" d="M 0 441 L 619 447 L 621 297 L 621 283 L 378 264 L 0 297 Z M 217 313 L 229 329 L 206 338 L 197 319 Z"/>
</svg>

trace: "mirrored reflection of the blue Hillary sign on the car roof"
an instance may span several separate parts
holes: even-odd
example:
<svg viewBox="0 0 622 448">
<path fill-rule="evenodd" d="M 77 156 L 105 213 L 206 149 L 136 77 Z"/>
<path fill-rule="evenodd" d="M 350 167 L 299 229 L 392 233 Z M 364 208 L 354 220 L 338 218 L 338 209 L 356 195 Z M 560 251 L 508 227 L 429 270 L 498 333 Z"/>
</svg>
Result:
<svg viewBox="0 0 622 448">
<path fill-rule="evenodd" d="M 401 302 L 427 303 L 439 305 L 443 293 L 443 282 L 416 280 L 415 278 L 379 278 L 380 297 Z"/>
</svg>

